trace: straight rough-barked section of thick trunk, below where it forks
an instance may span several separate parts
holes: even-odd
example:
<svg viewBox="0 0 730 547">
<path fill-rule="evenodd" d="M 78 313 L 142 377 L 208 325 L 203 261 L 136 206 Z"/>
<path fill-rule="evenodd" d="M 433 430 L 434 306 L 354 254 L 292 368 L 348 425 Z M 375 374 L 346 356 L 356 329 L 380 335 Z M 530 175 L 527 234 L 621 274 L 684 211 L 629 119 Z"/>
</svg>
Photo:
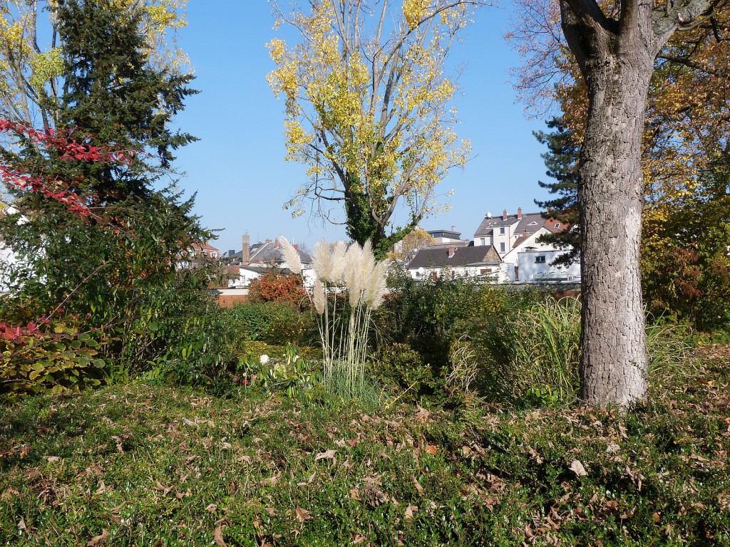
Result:
<svg viewBox="0 0 730 547">
<path fill-rule="evenodd" d="M 640 155 L 653 55 L 641 48 L 616 49 L 584 66 L 589 110 L 579 190 L 581 397 L 600 407 L 626 407 L 645 397 L 648 374 L 639 274 Z"/>
</svg>

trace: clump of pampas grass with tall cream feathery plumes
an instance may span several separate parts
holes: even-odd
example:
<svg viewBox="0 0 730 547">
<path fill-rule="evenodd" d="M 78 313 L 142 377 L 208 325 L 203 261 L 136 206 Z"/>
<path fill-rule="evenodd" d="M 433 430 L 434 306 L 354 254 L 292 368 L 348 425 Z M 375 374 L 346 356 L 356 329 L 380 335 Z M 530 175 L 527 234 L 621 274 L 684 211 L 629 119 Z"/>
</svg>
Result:
<svg viewBox="0 0 730 547">
<path fill-rule="evenodd" d="M 281 238 L 286 262 L 301 275 L 299 253 Z M 315 279 L 309 291 L 319 316 L 324 379 L 337 391 L 357 397 L 365 387 L 365 358 L 372 312 L 385 296 L 388 260 L 377 262 L 369 241 L 349 247 L 319 241 L 312 255 Z M 335 381 L 336 379 L 336 381 Z"/>
</svg>

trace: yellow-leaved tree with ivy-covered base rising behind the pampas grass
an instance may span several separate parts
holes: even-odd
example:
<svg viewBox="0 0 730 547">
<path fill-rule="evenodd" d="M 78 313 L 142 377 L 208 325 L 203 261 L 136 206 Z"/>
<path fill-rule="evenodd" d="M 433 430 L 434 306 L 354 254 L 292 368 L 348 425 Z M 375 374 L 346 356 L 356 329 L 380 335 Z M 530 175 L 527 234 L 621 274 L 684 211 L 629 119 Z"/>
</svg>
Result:
<svg viewBox="0 0 730 547">
<path fill-rule="evenodd" d="M 288 14 L 274 2 L 301 34 L 296 45 L 269 42 L 287 158 L 309 167 L 295 214 L 312 199 L 332 220 L 328 203 L 344 204 L 348 235 L 382 253 L 434 212 L 436 185 L 469 152 L 453 131 L 456 85 L 444 63 L 478 3 L 313 0 Z M 409 220 L 394 229 L 401 202 Z"/>
</svg>

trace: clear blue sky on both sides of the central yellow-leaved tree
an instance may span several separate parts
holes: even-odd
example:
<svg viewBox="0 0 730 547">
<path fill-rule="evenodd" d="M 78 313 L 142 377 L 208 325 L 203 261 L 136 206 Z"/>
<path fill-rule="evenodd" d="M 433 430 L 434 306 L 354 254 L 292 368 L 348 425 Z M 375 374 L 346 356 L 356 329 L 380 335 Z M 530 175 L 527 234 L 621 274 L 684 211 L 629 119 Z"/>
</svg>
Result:
<svg viewBox="0 0 730 547">
<path fill-rule="evenodd" d="M 547 179 L 545 149 L 532 136 L 545 124 L 526 119 L 510 84 L 509 69 L 519 59 L 503 38 L 509 10 L 508 3 L 481 9 L 453 47 L 449 71 L 464 69 L 454 101 L 457 132 L 472 141 L 474 158 L 441 183 L 439 193 L 454 190 L 451 209 L 423 220 L 426 230 L 456 226 L 471 238 L 487 211 L 534 211 L 534 199 L 546 195 L 537 185 Z M 345 237 L 341 226 L 307 214 L 292 219 L 283 210 L 306 179 L 304 166 L 284 161 L 284 106 L 266 82 L 273 64 L 264 44 L 274 36 L 272 25 L 264 0 L 191 0 L 179 36 L 201 93 L 176 121 L 200 141 L 178 151 L 176 166 L 185 171 L 183 189 L 197 193 L 203 224 L 223 229 L 213 242 L 221 251 L 239 250 L 246 232 L 252 242 L 284 235 L 310 247 L 322 237 Z"/>
</svg>

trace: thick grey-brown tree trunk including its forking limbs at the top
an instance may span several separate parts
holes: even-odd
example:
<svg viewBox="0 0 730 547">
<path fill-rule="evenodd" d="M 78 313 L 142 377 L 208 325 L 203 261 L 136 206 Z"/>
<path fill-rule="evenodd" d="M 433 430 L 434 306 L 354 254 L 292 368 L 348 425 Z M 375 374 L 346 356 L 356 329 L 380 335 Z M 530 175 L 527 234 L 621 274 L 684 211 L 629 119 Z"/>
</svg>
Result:
<svg viewBox="0 0 730 547">
<path fill-rule="evenodd" d="M 583 228 L 581 397 L 627 407 L 645 397 L 648 357 L 639 275 L 644 182 L 641 139 L 649 79 L 669 36 L 707 0 L 561 0 L 563 31 L 588 88 L 580 155 Z"/>
</svg>

